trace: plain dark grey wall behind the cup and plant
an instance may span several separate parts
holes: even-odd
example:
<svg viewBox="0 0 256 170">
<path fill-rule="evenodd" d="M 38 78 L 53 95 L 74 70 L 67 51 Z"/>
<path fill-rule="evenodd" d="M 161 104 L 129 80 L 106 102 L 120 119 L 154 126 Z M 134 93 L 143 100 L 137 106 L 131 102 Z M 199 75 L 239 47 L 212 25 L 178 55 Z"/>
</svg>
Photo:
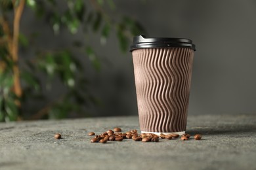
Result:
<svg viewBox="0 0 256 170">
<path fill-rule="evenodd" d="M 190 0 L 116 0 L 117 14 L 137 18 L 151 37 L 184 37 L 196 44 L 189 114 L 236 114 L 256 111 L 256 2 Z M 27 13 L 25 29 L 41 29 Z M 51 28 L 43 34 L 51 34 Z M 77 35 L 79 37 L 79 35 Z M 91 107 L 93 116 L 137 114 L 131 53 L 123 54 L 111 35 L 105 46 L 99 37 L 90 41 L 98 47 L 102 70 L 96 73 L 84 63 L 91 92 L 102 107 Z M 65 46 L 68 36 L 43 39 L 45 46 Z M 84 56 L 81 56 L 83 59 Z M 61 93 L 56 92 L 56 93 Z M 54 95 L 54 94 L 51 94 Z"/>
</svg>

